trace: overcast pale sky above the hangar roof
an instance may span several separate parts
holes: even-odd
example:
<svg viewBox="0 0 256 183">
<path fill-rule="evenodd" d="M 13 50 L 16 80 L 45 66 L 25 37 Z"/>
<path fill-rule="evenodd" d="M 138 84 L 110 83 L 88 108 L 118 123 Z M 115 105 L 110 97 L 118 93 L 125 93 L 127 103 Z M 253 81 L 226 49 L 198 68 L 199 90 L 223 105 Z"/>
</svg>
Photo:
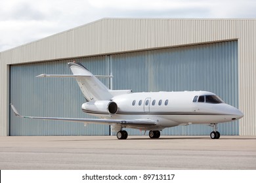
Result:
<svg viewBox="0 0 256 183">
<path fill-rule="evenodd" d="M 256 18 L 256 0 L 0 0 L 0 52 L 101 18 Z"/>
</svg>

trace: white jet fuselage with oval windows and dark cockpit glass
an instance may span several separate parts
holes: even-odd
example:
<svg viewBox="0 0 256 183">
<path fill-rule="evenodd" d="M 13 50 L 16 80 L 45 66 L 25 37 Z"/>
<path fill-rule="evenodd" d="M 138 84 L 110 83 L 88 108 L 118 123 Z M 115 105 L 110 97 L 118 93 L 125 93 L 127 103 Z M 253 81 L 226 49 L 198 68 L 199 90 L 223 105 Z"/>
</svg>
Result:
<svg viewBox="0 0 256 183">
<path fill-rule="evenodd" d="M 195 97 L 197 99 L 195 99 Z M 199 101 L 200 96 L 204 101 Z M 93 116 L 106 119 L 149 119 L 158 122 L 156 130 L 186 124 L 215 124 L 242 118 L 244 114 L 219 99 L 211 92 L 142 92 L 113 97 L 106 105 L 84 103 L 82 110 Z M 202 97 L 201 97 L 202 98 Z M 218 101 L 219 99 L 219 101 Z M 116 103 L 114 112 L 108 110 L 108 103 Z M 94 105 L 95 108 L 91 108 Z M 142 127 L 140 127 L 142 129 Z M 151 127 L 152 129 L 152 127 Z"/>
</svg>

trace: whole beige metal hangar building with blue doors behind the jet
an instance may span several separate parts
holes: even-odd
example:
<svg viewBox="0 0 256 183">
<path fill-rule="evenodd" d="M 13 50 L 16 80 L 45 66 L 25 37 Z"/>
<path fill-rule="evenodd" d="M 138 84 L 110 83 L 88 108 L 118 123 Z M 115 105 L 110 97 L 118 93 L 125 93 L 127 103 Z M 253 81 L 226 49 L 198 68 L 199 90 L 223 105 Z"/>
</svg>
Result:
<svg viewBox="0 0 256 183">
<path fill-rule="evenodd" d="M 0 53 L 0 135 L 110 135 L 110 126 L 17 118 L 91 118 L 74 78 L 35 78 L 71 74 L 81 62 L 110 89 L 133 92 L 216 93 L 244 112 L 219 124 L 221 135 L 256 135 L 256 19 L 104 18 Z M 142 132 L 129 129 L 129 135 Z M 209 135 L 207 125 L 164 129 L 162 135 Z"/>
</svg>

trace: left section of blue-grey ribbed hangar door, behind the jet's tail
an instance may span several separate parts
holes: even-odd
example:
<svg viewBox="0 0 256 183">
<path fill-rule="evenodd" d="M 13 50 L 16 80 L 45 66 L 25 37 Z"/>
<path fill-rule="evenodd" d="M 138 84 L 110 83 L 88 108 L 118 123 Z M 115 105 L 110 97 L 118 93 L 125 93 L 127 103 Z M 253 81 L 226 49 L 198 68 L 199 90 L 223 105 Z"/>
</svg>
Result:
<svg viewBox="0 0 256 183">
<path fill-rule="evenodd" d="M 35 78 L 41 73 L 71 74 L 67 63 L 51 61 L 11 66 L 11 103 L 26 116 L 93 118 L 81 111 L 85 102 L 74 78 Z M 106 56 L 76 59 L 95 75 L 108 75 Z M 102 80 L 109 85 L 108 80 Z M 28 120 L 10 116 L 10 135 L 109 135 L 108 125 Z"/>
</svg>

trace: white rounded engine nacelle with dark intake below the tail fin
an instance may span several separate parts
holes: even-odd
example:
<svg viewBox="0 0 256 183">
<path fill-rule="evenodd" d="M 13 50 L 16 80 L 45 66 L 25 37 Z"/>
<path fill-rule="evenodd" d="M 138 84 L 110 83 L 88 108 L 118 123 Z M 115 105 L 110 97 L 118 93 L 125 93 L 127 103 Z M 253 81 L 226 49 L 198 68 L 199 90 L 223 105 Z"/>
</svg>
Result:
<svg viewBox="0 0 256 183">
<path fill-rule="evenodd" d="M 83 103 L 83 112 L 91 114 L 116 114 L 117 104 L 114 101 L 91 101 Z"/>
</svg>

